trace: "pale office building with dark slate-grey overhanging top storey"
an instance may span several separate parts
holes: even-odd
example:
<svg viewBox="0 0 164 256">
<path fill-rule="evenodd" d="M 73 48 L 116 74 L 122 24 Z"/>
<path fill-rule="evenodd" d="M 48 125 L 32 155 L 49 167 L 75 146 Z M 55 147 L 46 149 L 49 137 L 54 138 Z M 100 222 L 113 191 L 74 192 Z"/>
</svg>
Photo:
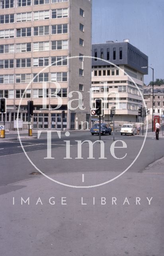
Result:
<svg viewBox="0 0 164 256">
<path fill-rule="evenodd" d="M 102 98 L 104 120 L 111 120 L 110 110 L 115 107 L 116 121 L 137 122 L 143 78 L 148 72 L 141 67 L 148 66 L 148 57 L 129 40 L 92 44 L 92 57 L 92 98 Z"/>
</svg>

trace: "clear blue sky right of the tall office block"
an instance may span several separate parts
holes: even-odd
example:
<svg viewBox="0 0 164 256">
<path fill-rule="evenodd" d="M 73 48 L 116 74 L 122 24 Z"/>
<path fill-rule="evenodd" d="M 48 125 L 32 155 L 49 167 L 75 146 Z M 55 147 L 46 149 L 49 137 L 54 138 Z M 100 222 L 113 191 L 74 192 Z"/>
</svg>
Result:
<svg viewBox="0 0 164 256">
<path fill-rule="evenodd" d="M 164 79 L 164 0 L 92 0 L 92 43 L 123 39 L 148 56 L 154 80 Z"/>
</svg>

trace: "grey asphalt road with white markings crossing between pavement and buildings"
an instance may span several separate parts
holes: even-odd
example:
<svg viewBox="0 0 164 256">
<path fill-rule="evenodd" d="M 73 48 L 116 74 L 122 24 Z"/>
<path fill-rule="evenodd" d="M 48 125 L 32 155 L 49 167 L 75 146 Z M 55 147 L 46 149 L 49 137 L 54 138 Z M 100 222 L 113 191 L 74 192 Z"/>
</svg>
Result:
<svg viewBox="0 0 164 256">
<path fill-rule="evenodd" d="M 35 134 L 37 135 L 37 134 Z M 15 135 L 16 137 L 17 135 Z M 23 148 L 27 155 L 31 157 L 31 160 L 36 166 L 43 167 L 41 170 L 49 174 L 57 173 L 73 173 L 75 171 L 75 166 L 80 164 L 83 168 L 76 168 L 76 172 L 87 172 L 89 171 L 99 171 L 99 170 L 108 170 L 108 164 L 110 163 L 110 170 L 112 172 L 121 172 L 125 170 L 131 162 L 135 159 L 141 146 L 143 145 L 144 138 L 142 136 L 121 136 L 119 132 L 115 133 L 115 141 L 122 140 L 127 144 L 126 149 L 116 149 L 117 157 L 122 158 L 127 153 L 126 158 L 123 160 L 116 160 L 110 154 L 110 147 L 113 143 L 113 135 L 102 136 L 101 139 L 105 144 L 105 157 L 107 159 L 99 159 L 100 157 L 100 146 L 98 144 L 94 145 L 94 157 L 95 159 L 87 159 L 89 150 L 86 146 L 87 154 L 82 150 L 84 154 L 83 160 L 76 160 L 77 158 L 77 141 L 81 140 L 90 140 L 95 142 L 98 140 L 98 135 L 91 136 L 90 132 L 70 132 L 70 136 L 66 137 L 65 133 L 61 133 L 61 138 L 56 132 L 52 133 L 51 138 L 51 157 L 58 157 L 58 162 L 54 160 L 45 160 L 47 156 L 47 134 L 42 133 L 39 139 L 31 140 L 21 140 Z M 11 136 L 10 136 L 11 137 Z M 13 137 L 13 136 L 12 136 Z M 70 140 L 70 151 L 72 153 L 71 160 L 64 160 L 66 156 L 66 140 Z M 148 164 L 158 160 L 164 155 L 164 140 L 161 139 L 156 141 L 152 137 L 147 137 L 144 144 L 143 150 L 139 155 L 139 158 L 133 164 L 133 166 L 128 170 L 128 172 L 142 172 Z M 117 144 L 116 144 L 117 146 Z M 120 145 L 122 146 L 122 144 Z M 73 150 L 72 150 L 73 148 Z M 53 155 L 54 154 L 54 155 Z M 96 155 L 97 154 L 97 155 Z M 35 168 L 31 165 L 29 160 L 27 160 L 20 142 L 17 140 L 1 140 L 0 141 L 0 161 L 1 161 L 1 170 L 0 170 L 0 186 L 7 185 L 13 182 L 18 182 L 20 180 L 28 179 L 31 172 L 37 172 Z M 55 167 L 55 168 L 52 168 Z M 108 175 L 108 174 L 107 174 Z M 35 177 L 35 176 L 33 176 Z M 105 181 L 102 179 L 102 182 Z"/>
</svg>

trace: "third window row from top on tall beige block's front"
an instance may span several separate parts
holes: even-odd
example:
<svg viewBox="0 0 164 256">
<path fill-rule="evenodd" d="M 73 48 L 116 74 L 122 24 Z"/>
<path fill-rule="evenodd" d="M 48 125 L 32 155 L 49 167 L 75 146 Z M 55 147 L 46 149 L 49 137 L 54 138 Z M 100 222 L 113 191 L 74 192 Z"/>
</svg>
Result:
<svg viewBox="0 0 164 256">
<path fill-rule="evenodd" d="M 32 28 L 16 28 L 16 37 L 32 36 Z M 51 34 L 67 34 L 68 24 L 51 25 Z M 49 26 L 33 27 L 33 36 L 49 35 Z M 14 29 L 0 30 L 0 39 L 14 38 Z"/>
</svg>

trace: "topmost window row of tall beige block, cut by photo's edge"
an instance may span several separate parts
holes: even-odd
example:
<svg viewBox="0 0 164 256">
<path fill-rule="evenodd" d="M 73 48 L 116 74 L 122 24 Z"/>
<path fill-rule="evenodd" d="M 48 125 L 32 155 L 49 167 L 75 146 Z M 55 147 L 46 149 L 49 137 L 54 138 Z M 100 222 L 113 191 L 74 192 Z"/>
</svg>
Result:
<svg viewBox="0 0 164 256">
<path fill-rule="evenodd" d="M 49 4 L 50 0 L 33 0 L 33 5 Z M 51 3 L 68 2 L 68 0 L 51 0 Z M 16 7 L 31 6 L 32 0 L 16 0 Z M 0 9 L 14 8 L 15 0 L 0 0 Z"/>
</svg>

